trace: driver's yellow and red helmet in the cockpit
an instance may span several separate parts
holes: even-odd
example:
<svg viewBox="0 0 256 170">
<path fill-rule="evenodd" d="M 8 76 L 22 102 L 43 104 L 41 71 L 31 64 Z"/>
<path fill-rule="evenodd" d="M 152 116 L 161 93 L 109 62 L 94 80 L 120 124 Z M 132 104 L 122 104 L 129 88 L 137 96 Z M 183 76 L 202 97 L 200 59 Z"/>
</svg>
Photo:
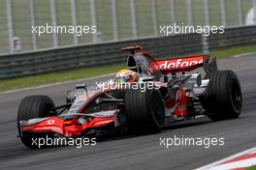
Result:
<svg viewBox="0 0 256 170">
<path fill-rule="evenodd" d="M 115 83 L 125 84 L 125 83 L 136 83 L 139 81 L 139 75 L 135 71 L 121 70 L 116 73 Z"/>
</svg>

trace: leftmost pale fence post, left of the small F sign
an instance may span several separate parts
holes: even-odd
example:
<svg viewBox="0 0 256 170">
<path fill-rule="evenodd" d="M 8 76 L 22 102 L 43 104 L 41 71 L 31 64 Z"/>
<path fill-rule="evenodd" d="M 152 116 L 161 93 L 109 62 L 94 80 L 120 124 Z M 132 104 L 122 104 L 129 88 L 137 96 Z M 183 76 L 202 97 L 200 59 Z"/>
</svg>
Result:
<svg viewBox="0 0 256 170">
<path fill-rule="evenodd" d="M 14 27 L 13 27 L 13 14 L 11 1 L 6 0 L 6 13 L 7 13 L 7 28 L 8 28 L 8 39 L 9 39 L 9 52 L 14 53 L 13 48 L 13 37 L 14 37 Z"/>
</svg>

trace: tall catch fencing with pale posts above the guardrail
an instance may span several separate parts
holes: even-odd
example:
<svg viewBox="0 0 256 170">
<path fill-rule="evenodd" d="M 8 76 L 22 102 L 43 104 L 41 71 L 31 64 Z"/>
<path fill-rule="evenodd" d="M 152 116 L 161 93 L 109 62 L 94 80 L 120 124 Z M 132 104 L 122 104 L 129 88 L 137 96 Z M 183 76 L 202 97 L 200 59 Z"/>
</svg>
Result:
<svg viewBox="0 0 256 170">
<path fill-rule="evenodd" d="M 0 54 L 159 37 L 159 26 L 174 23 L 244 26 L 249 14 L 256 0 L 1 0 Z M 96 25 L 97 34 L 32 33 L 47 23 Z"/>
</svg>

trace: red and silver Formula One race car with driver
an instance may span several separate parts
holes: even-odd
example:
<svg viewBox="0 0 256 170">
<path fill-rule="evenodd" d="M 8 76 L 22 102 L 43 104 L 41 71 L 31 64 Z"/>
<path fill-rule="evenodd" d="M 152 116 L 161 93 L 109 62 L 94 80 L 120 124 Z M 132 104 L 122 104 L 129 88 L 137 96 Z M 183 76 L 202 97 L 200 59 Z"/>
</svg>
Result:
<svg viewBox="0 0 256 170">
<path fill-rule="evenodd" d="M 17 113 L 22 143 L 37 148 L 33 137 L 154 133 L 199 115 L 212 121 L 240 116 L 240 81 L 234 71 L 219 71 L 208 55 L 154 60 L 141 49 L 122 48 L 131 53 L 126 70 L 93 87 L 78 85 L 63 105 L 55 106 L 47 96 L 22 99 Z"/>
</svg>

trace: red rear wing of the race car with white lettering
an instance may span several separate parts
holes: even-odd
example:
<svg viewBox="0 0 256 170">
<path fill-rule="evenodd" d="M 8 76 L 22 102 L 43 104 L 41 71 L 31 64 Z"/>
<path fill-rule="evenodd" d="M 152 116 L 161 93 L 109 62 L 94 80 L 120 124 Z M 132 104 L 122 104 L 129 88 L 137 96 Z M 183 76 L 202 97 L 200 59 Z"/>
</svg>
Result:
<svg viewBox="0 0 256 170">
<path fill-rule="evenodd" d="M 196 55 L 189 57 L 173 58 L 168 60 L 156 60 L 157 70 L 165 73 L 176 73 L 183 71 L 193 71 L 203 67 L 208 63 L 209 55 Z"/>
</svg>

